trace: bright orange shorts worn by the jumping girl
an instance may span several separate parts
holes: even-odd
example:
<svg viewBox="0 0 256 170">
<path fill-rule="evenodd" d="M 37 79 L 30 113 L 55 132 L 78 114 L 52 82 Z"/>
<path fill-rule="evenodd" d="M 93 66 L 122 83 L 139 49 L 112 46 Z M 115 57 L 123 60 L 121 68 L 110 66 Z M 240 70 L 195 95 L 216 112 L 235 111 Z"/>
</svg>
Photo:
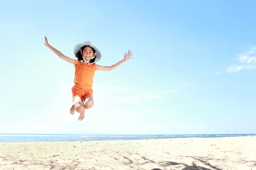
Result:
<svg viewBox="0 0 256 170">
<path fill-rule="evenodd" d="M 91 88 L 91 86 L 89 85 L 74 85 L 72 87 L 72 95 L 73 95 L 73 100 L 76 96 L 80 96 L 82 98 L 82 100 L 84 100 L 85 96 L 91 94 L 93 96 L 93 90 Z"/>
</svg>

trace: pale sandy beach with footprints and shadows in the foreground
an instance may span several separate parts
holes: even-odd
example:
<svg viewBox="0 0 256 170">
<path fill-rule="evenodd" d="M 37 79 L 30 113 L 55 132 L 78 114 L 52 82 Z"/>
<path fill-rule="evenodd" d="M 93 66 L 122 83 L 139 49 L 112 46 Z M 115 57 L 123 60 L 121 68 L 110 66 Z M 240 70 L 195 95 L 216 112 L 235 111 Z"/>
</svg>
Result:
<svg viewBox="0 0 256 170">
<path fill-rule="evenodd" d="M 256 136 L 2 142 L 0 170 L 256 170 Z"/>
</svg>

